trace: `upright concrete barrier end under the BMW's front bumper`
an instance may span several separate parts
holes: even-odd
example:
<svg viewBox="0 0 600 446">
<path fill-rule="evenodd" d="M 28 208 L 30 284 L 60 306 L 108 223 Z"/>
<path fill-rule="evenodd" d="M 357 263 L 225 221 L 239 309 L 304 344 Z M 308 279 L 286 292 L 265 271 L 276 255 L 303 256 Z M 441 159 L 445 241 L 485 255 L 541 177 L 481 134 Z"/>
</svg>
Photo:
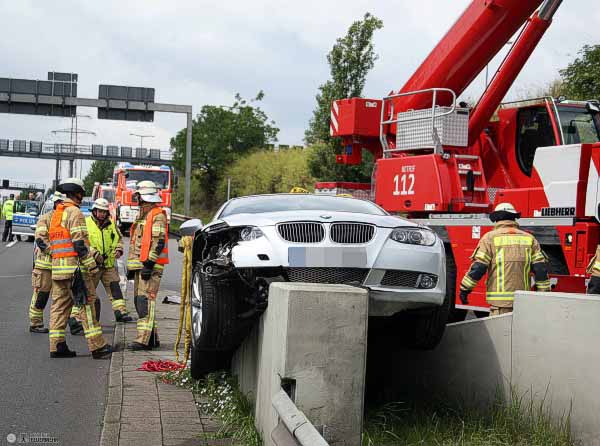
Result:
<svg viewBox="0 0 600 446">
<path fill-rule="evenodd" d="M 232 364 L 255 401 L 265 446 L 278 420 L 272 397 L 282 383 L 330 445 L 361 444 L 368 294 L 346 285 L 274 283 L 260 323 Z"/>
</svg>

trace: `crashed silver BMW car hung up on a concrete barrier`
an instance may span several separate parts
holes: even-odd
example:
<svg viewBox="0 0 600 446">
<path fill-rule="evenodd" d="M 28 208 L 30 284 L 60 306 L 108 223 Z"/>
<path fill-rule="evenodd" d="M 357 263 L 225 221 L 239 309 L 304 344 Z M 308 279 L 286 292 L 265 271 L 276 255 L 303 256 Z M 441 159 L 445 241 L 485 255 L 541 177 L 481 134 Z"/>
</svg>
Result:
<svg viewBox="0 0 600 446">
<path fill-rule="evenodd" d="M 410 315 L 405 325 L 418 332 L 413 347 L 432 348 L 441 338 L 449 308 L 442 241 L 372 202 L 309 194 L 240 197 L 208 225 L 190 220 L 181 231 L 194 235 L 196 376 L 218 366 L 215 352 L 227 357 L 241 342 L 276 281 L 365 287 L 369 316 Z"/>
</svg>

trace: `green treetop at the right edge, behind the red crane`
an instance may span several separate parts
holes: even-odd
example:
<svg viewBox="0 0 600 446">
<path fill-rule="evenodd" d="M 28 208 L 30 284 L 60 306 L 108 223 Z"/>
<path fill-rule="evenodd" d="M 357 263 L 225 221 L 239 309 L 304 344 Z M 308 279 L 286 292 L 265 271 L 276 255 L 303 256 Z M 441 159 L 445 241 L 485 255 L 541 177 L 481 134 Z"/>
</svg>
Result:
<svg viewBox="0 0 600 446">
<path fill-rule="evenodd" d="M 564 94 L 569 99 L 600 99 L 600 45 L 584 45 L 580 57 L 560 70 Z"/>
</svg>

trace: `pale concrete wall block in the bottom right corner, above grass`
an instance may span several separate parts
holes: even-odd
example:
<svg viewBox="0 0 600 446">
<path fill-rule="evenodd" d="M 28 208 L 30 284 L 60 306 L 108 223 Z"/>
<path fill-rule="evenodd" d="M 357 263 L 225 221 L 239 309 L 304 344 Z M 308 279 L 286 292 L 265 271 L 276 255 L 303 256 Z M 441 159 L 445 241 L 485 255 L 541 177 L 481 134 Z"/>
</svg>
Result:
<svg viewBox="0 0 600 446">
<path fill-rule="evenodd" d="M 513 383 L 545 399 L 557 417 L 572 407 L 577 438 L 600 445 L 600 298 L 518 292 Z"/>
</svg>

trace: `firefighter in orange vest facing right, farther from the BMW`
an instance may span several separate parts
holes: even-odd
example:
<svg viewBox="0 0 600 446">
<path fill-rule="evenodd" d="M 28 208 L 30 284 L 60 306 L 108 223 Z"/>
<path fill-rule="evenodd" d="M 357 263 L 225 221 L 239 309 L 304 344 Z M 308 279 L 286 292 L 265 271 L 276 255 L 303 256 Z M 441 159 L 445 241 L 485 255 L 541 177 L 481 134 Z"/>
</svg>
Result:
<svg viewBox="0 0 600 446">
<path fill-rule="evenodd" d="M 76 353 L 65 342 L 67 319 L 73 306 L 73 286 L 79 268 L 85 281 L 85 303 L 79 308 L 88 348 L 94 359 L 102 359 L 112 353 L 112 348 L 102 336 L 102 327 L 96 320 L 94 302 L 95 288 L 90 275 L 98 271 L 90 252 L 85 217 L 79 209 L 85 193 L 83 182 L 68 178 L 56 188 L 66 195 L 52 213 L 49 238 L 52 253 L 52 306 L 50 307 L 50 357 L 71 358 Z"/>
</svg>

